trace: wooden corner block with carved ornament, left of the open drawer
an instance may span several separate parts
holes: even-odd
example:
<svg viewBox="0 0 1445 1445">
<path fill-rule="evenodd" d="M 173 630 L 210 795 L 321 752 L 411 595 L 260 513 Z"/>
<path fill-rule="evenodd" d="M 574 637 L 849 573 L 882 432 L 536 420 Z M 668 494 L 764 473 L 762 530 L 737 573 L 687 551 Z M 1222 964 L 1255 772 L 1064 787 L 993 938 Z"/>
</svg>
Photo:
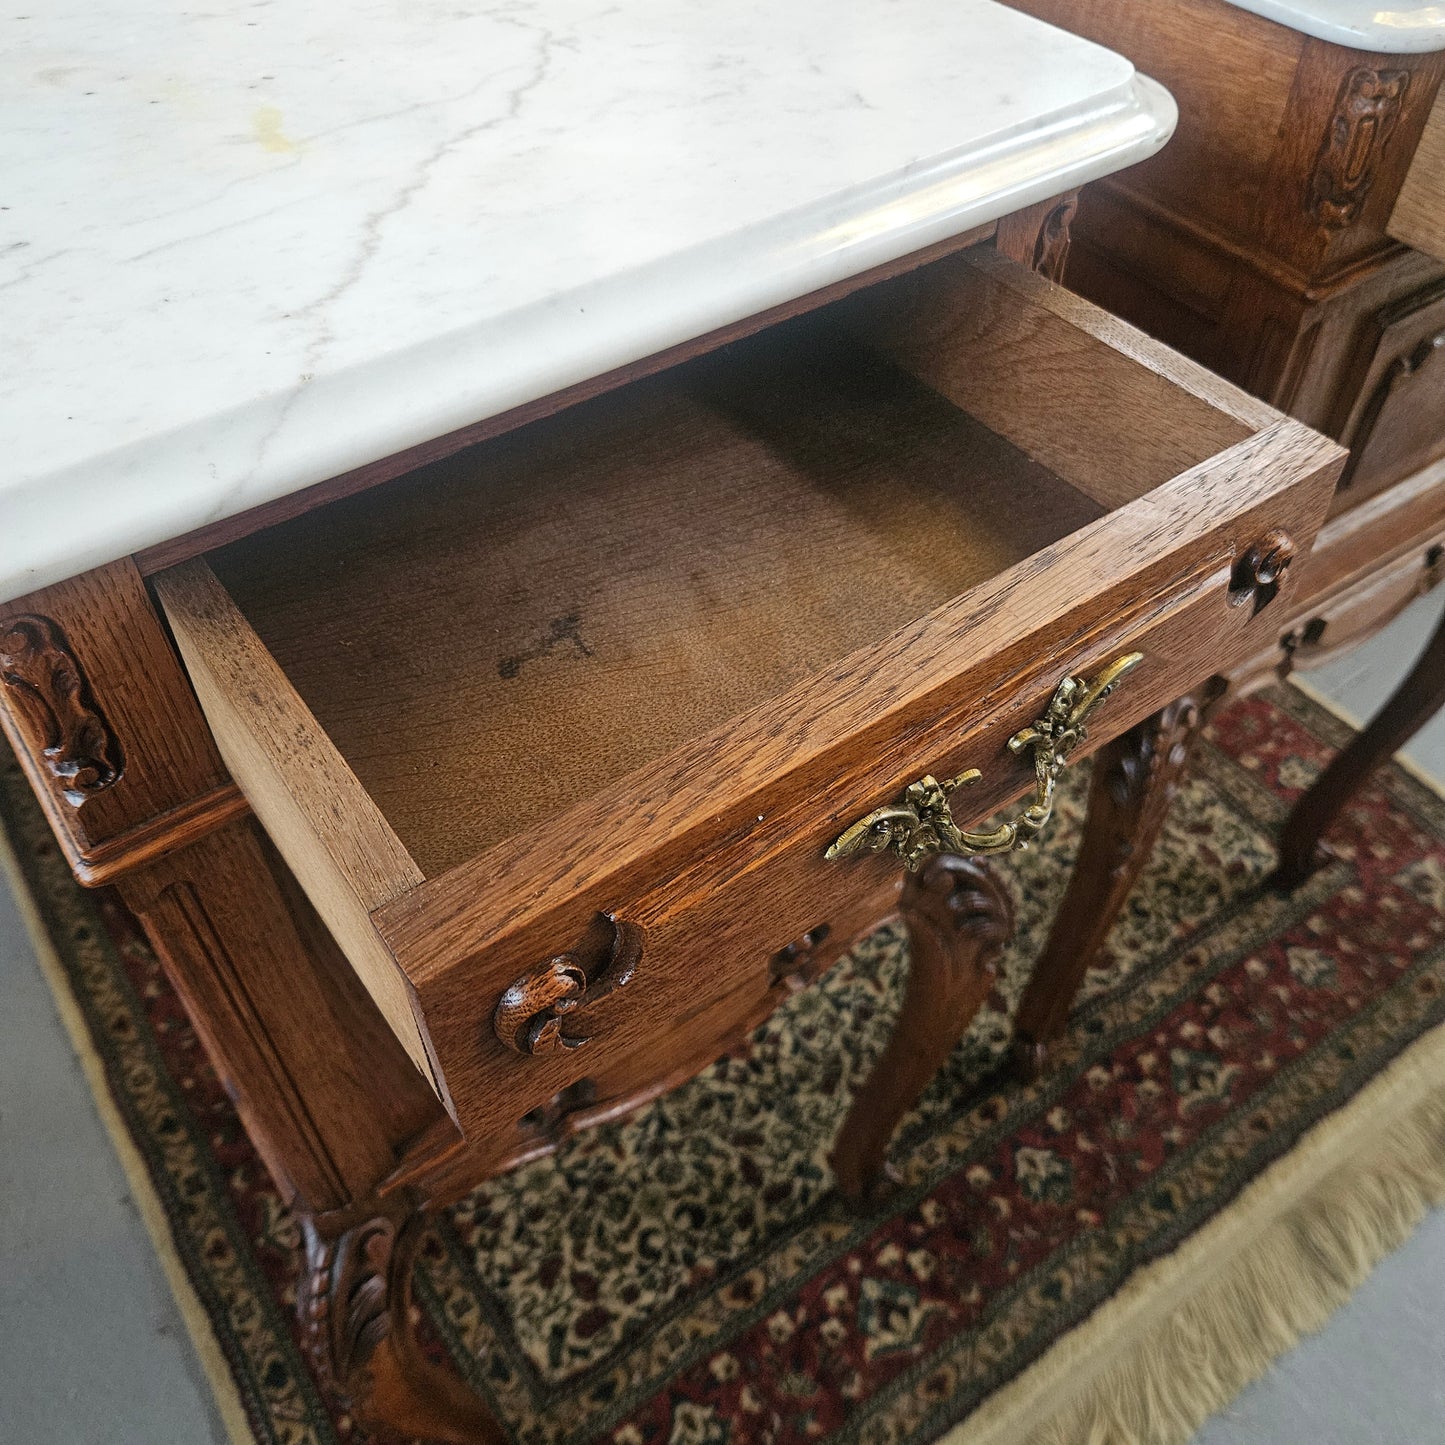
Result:
<svg viewBox="0 0 1445 1445">
<path fill-rule="evenodd" d="M 246 811 L 129 561 L 0 607 L 0 724 L 82 883 Z"/>
</svg>

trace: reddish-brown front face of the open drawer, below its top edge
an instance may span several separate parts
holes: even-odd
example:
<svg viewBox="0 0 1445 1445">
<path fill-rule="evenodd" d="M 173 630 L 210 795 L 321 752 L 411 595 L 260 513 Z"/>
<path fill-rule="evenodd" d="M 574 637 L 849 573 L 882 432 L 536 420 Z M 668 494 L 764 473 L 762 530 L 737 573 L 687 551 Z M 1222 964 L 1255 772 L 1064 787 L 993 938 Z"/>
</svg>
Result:
<svg viewBox="0 0 1445 1445">
<path fill-rule="evenodd" d="M 1321 500 L 1311 506 L 1318 510 Z M 1303 520 L 1287 506 L 1274 516 L 1295 527 Z M 993 702 L 959 699 L 883 740 L 821 788 L 789 777 L 762 818 L 754 814 L 718 837 L 694 866 L 603 900 L 594 919 L 607 913 L 617 928 L 634 929 L 636 951 L 621 987 L 610 987 L 605 949 L 578 957 L 601 988 L 569 990 L 565 1013 L 553 1016 L 559 1033 L 587 1040 L 577 1048 L 529 1053 L 516 1048 L 514 1032 L 510 1043 L 497 1036 L 501 998 L 527 980 L 536 988 L 549 975 L 549 957 L 510 978 L 484 955 L 447 970 L 426 994 L 426 1019 L 454 1094 L 468 1101 L 470 1136 L 504 1136 L 529 1114 L 529 1124 L 540 1118 L 551 1130 L 566 1108 L 595 1113 L 711 1062 L 890 910 L 903 877 L 896 857 L 825 857 L 850 824 L 894 802 L 925 773 L 958 776 L 971 767 L 980 780 L 952 801 L 959 827 L 998 812 L 1017 816 L 1032 798 L 1032 770 L 1009 738 L 1043 715 L 1064 672 L 1087 678 L 1116 657 L 1142 655 L 1091 718 L 1075 754 L 1082 757 L 1274 636 L 1274 618 L 1292 597 L 1287 574 L 1279 598 L 1259 613 L 1231 601 L 1230 581 L 1231 569 L 1221 566 L 1166 600 L 1136 604 L 1133 611 L 1143 613 L 1136 621 L 1110 620 L 1072 650 L 1061 646 L 1056 660 L 1040 656 Z M 1212 662 L 1201 672 L 1205 656 Z M 584 922 L 575 939 L 553 935 L 551 957 L 577 949 L 590 926 Z M 532 994 L 543 1012 L 545 997 Z M 848 1046 L 845 1038 L 838 1042 Z M 529 1134 L 523 1127 L 519 1147 Z"/>
</svg>

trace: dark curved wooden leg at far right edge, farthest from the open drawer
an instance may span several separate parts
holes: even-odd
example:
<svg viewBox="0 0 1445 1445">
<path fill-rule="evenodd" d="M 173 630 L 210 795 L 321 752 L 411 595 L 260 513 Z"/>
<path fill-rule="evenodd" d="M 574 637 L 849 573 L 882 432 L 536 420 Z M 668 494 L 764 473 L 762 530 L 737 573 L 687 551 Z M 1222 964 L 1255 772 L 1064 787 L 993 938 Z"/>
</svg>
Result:
<svg viewBox="0 0 1445 1445">
<path fill-rule="evenodd" d="M 1296 801 L 1279 838 L 1279 867 L 1270 880 L 1280 892 L 1298 889 L 1332 857 L 1324 835 L 1366 779 L 1445 707 L 1445 617 L 1425 652 L 1370 725 L 1355 734 Z"/>
</svg>

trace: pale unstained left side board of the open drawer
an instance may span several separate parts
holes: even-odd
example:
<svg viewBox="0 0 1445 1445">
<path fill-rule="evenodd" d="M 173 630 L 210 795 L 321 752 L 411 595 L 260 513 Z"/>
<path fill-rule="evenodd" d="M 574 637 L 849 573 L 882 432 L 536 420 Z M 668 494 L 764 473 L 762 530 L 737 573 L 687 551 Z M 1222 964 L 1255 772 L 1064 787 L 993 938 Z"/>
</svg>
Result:
<svg viewBox="0 0 1445 1445">
<path fill-rule="evenodd" d="M 420 870 L 205 562 L 162 574 L 156 594 L 256 816 L 412 1062 L 436 1082 L 406 980 L 367 916 L 420 883 Z"/>
</svg>

